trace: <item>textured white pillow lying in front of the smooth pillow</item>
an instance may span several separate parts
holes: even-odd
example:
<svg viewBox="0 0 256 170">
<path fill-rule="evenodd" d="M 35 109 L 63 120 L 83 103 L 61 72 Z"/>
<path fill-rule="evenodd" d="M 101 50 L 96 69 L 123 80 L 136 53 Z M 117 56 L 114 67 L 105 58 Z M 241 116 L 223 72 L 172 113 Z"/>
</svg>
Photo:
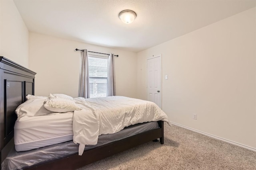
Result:
<svg viewBox="0 0 256 170">
<path fill-rule="evenodd" d="M 64 99 L 64 98 L 55 98 L 51 95 L 48 97 L 44 104 L 44 108 L 54 112 L 68 112 L 81 110 L 79 106 L 73 100 Z"/>
</svg>

